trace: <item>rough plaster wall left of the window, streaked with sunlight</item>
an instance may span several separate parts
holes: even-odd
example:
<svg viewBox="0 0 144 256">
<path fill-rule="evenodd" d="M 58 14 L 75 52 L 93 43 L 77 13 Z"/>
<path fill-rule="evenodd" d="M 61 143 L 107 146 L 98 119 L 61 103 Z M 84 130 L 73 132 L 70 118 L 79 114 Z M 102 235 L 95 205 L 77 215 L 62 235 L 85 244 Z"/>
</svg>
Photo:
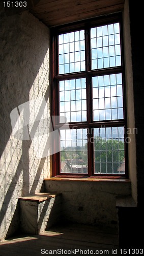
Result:
<svg viewBox="0 0 144 256">
<path fill-rule="evenodd" d="M 50 142 L 42 142 L 41 150 L 46 147 L 47 154 L 41 158 L 39 133 L 47 141 L 50 37 L 48 28 L 27 11 L 7 15 L 1 3 L 0 18 L 0 239 L 4 239 L 18 229 L 18 198 L 40 191 L 49 175 Z M 10 116 L 14 109 L 17 112 Z M 16 113 L 23 125 L 24 120 L 29 122 L 25 129 L 26 134 L 33 130 L 32 138 L 23 140 L 24 130 L 12 133 L 11 118 Z M 39 119 L 45 131 L 41 131 Z"/>
</svg>

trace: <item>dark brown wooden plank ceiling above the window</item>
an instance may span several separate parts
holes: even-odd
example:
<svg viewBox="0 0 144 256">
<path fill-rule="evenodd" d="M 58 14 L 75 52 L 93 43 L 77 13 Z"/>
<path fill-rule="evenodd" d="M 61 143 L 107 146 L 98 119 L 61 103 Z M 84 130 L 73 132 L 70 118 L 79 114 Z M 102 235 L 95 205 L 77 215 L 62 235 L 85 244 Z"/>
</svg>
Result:
<svg viewBox="0 0 144 256">
<path fill-rule="evenodd" d="M 124 0 L 29 0 L 27 10 L 48 27 L 119 12 Z"/>
</svg>

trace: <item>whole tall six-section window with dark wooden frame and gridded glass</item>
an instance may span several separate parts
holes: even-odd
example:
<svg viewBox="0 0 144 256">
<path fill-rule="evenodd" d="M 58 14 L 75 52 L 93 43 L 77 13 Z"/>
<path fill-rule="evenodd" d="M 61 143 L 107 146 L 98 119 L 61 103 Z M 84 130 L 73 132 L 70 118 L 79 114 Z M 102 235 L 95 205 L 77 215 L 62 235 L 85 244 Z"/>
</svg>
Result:
<svg viewBox="0 0 144 256">
<path fill-rule="evenodd" d="M 53 141 L 60 147 L 52 156 L 54 176 L 126 175 L 121 31 L 120 14 L 54 31 L 52 115 L 59 116 L 53 125 L 60 134 Z"/>
</svg>

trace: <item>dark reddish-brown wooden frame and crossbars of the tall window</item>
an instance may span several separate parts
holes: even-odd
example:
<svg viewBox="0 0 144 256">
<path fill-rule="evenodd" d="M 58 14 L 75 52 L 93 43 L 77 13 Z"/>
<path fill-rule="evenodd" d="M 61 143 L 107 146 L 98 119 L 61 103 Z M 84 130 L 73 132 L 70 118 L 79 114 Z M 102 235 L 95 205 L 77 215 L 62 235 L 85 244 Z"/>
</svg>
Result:
<svg viewBox="0 0 144 256">
<path fill-rule="evenodd" d="M 108 23 L 120 23 L 120 35 L 121 35 L 121 61 L 122 65 L 118 67 L 112 68 L 103 68 L 103 69 L 96 69 L 91 70 L 91 49 L 90 49 L 90 28 L 94 26 L 103 26 L 107 25 Z M 125 92 L 125 67 L 124 67 L 124 47 L 123 47 L 123 27 L 122 27 L 122 13 L 117 14 L 109 14 L 102 17 L 92 18 L 89 20 L 84 20 L 82 22 L 77 22 L 65 26 L 60 26 L 56 28 L 52 28 L 51 30 L 51 115 L 52 116 L 59 116 L 59 89 L 58 84 L 59 81 L 68 80 L 68 79 L 76 79 L 76 78 L 83 78 L 87 79 L 87 84 L 89 83 L 89 87 L 87 86 L 87 122 L 81 123 L 69 123 L 70 129 L 73 126 L 77 126 L 79 128 L 87 128 L 89 131 L 93 128 L 99 127 L 117 127 L 123 126 L 125 130 L 125 138 L 126 138 L 126 131 L 127 131 L 127 113 L 126 113 L 126 92 Z M 59 74 L 58 71 L 58 42 L 57 37 L 59 34 L 68 33 L 77 31 L 80 29 L 85 29 L 85 71 L 76 72 L 76 73 L 67 73 L 67 74 Z M 88 42 L 89 41 L 89 42 Z M 110 121 L 93 121 L 92 120 L 92 87 L 91 87 L 91 77 L 98 76 L 98 75 L 110 75 L 115 73 L 122 73 L 123 79 L 123 102 L 124 102 L 124 119 L 118 120 L 110 120 Z M 90 90 L 91 89 L 91 90 Z M 57 123 L 56 119 L 53 119 L 53 130 L 59 130 L 62 124 Z M 88 138 L 90 141 L 90 137 L 92 135 L 89 133 Z M 57 141 L 52 141 L 53 146 Z M 95 178 L 128 178 L 128 146 L 125 140 L 125 174 L 94 174 L 94 147 L 93 143 L 88 143 L 88 174 L 62 174 L 60 173 L 60 152 L 55 153 L 52 155 L 52 177 L 74 177 L 74 178 L 86 178 L 86 177 L 95 177 Z"/>
</svg>

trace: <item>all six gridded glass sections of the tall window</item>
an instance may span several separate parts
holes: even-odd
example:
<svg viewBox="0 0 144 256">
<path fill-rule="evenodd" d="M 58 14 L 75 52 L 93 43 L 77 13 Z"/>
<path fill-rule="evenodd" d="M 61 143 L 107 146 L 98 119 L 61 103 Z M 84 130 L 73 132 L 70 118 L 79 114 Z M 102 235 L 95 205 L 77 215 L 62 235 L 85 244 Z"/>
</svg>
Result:
<svg viewBox="0 0 144 256">
<path fill-rule="evenodd" d="M 58 49 L 59 74 L 85 71 L 84 30 L 60 34 Z M 121 66 L 120 24 L 113 23 L 91 28 L 90 50 L 91 71 Z M 92 79 L 92 122 L 123 120 L 122 73 L 99 76 L 94 76 L 94 74 L 90 75 L 90 79 Z M 61 116 L 65 116 L 69 123 L 88 121 L 87 106 L 89 103 L 87 102 L 86 78 L 60 80 L 59 99 L 60 122 Z M 94 173 L 117 174 L 118 167 L 120 168 L 124 162 L 124 126 L 94 127 L 93 129 L 94 143 L 99 138 L 103 145 L 107 146 L 107 149 L 104 150 L 101 148 L 97 150 L 94 146 Z M 87 172 L 88 133 L 89 129 L 81 129 L 81 127 L 61 130 L 61 149 L 63 151 L 61 161 L 68 161 L 68 165 L 71 165 L 71 171 L 67 170 L 67 172 L 73 172 L 74 164 L 77 166 L 75 167 L 76 172 L 78 172 L 78 168 L 82 168 L 82 172 Z M 108 149 L 110 141 L 112 143 L 111 150 Z M 80 151 L 82 154 L 79 153 Z M 78 167 L 80 165 L 82 167 Z"/>
</svg>

